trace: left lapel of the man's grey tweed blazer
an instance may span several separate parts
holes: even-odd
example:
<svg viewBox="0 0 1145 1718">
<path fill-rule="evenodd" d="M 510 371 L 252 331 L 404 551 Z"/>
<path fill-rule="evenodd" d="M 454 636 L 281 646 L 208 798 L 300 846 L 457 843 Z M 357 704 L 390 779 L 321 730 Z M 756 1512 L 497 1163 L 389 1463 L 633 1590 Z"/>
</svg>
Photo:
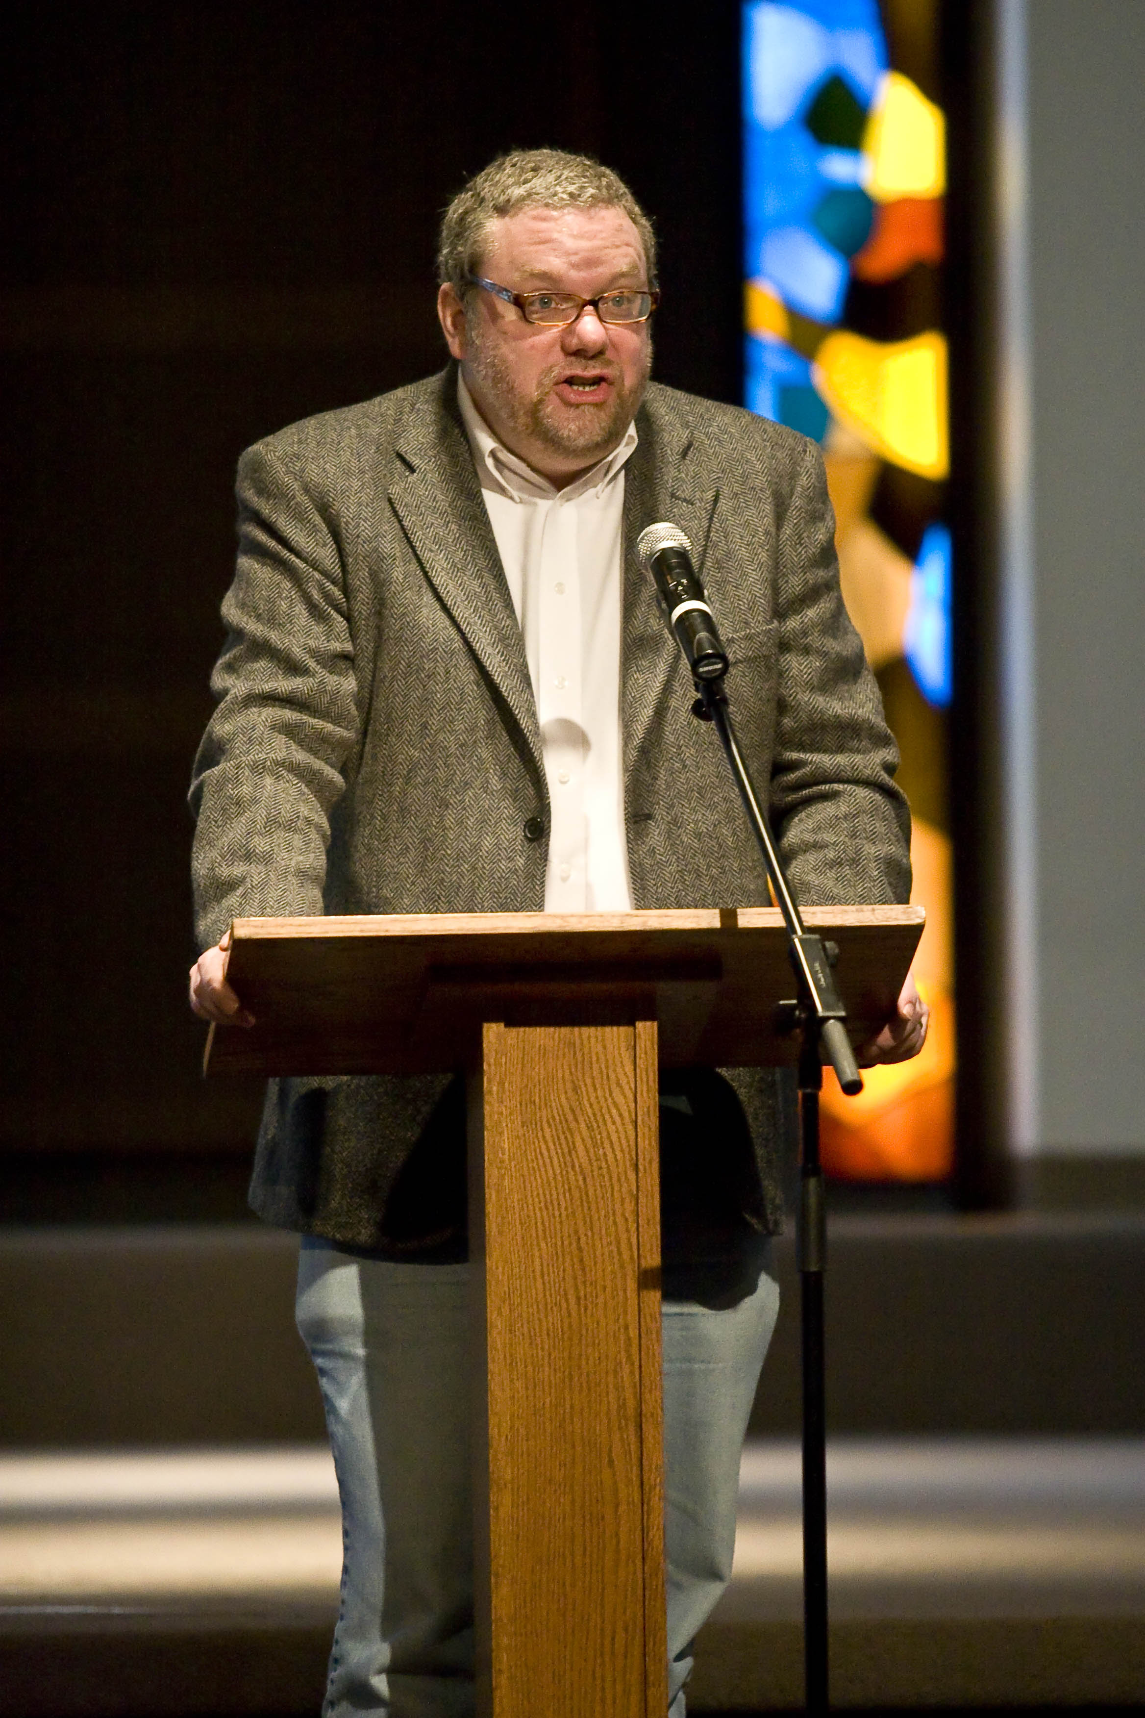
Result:
<svg viewBox="0 0 1145 1718">
<path fill-rule="evenodd" d="M 390 505 L 422 572 L 517 722 L 544 783 L 525 641 L 453 390 L 450 368 L 441 388 L 422 395 L 402 426 Z"/>
</svg>

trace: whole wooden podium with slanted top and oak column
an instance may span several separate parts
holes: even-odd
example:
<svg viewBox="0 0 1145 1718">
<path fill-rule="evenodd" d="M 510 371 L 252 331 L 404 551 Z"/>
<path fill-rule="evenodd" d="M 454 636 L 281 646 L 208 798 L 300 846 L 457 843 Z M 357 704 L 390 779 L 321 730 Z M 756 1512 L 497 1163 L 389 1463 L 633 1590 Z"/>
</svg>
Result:
<svg viewBox="0 0 1145 1718">
<path fill-rule="evenodd" d="M 917 907 L 807 909 L 858 1041 Z M 774 909 L 237 919 L 209 1074 L 470 1074 L 477 1708 L 664 1718 L 657 1065 L 793 1062 Z"/>
</svg>

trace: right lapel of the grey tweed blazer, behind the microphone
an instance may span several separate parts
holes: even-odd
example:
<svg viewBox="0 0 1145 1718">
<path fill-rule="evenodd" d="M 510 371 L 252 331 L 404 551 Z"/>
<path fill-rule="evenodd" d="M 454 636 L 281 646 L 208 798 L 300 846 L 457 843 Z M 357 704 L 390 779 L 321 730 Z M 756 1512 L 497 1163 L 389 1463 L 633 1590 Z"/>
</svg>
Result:
<svg viewBox="0 0 1145 1718">
<path fill-rule="evenodd" d="M 625 751 L 625 804 L 630 814 L 649 807 L 630 801 L 640 758 L 654 735 L 669 698 L 687 694 L 680 646 L 668 631 L 640 565 L 637 538 L 645 526 L 680 526 L 692 543 L 702 572 L 719 490 L 695 459 L 687 421 L 664 412 L 654 395 L 637 417 L 639 443 L 625 467 L 625 600 L 621 634 L 621 715 Z"/>
</svg>

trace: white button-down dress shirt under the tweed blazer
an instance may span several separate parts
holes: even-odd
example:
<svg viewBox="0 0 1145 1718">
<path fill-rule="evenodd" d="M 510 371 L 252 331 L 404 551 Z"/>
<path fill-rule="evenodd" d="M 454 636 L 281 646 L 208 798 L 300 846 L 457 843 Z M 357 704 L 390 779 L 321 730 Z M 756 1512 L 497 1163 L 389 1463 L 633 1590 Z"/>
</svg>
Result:
<svg viewBox="0 0 1145 1718">
<path fill-rule="evenodd" d="M 457 397 L 525 637 L 549 787 L 546 912 L 628 912 L 620 746 L 623 466 L 620 447 L 554 490 L 489 431 L 460 371 Z"/>
</svg>

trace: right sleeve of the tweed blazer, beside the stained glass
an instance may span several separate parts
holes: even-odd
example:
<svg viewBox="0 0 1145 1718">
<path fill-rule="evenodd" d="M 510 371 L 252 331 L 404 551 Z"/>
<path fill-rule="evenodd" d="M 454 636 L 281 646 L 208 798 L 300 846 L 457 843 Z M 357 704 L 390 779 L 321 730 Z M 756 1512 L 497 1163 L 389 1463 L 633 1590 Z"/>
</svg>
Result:
<svg viewBox="0 0 1145 1718">
<path fill-rule="evenodd" d="M 771 807 L 797 899 L 910 899 L 898 747 L 839 593 L 822 455 L 807 447 L 779 531 L 779 699 Z"/>
</svg>

